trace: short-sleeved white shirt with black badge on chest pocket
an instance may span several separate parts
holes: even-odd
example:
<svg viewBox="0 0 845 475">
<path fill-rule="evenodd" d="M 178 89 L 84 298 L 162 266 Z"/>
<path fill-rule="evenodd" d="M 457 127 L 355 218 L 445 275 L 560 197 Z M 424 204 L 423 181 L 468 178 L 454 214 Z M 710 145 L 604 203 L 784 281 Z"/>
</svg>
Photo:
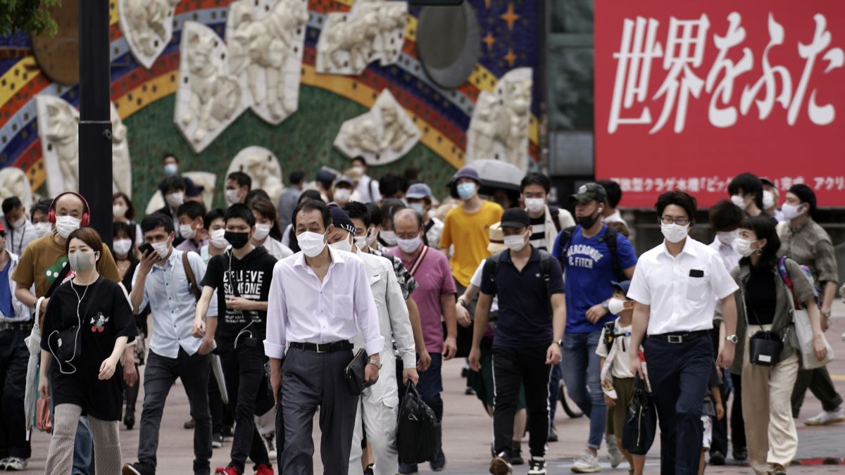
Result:
<svg viewBox="0 0 845 475">
<path fill-rule="evenodd" d="M 715 249 L 687 238 L 677 257 L 665 243 L 642 254 L 628 298 L 651 305 L 647 334 L 661 335 L 710 330 L 716 299 L 738 288 Z"/>
</svg>

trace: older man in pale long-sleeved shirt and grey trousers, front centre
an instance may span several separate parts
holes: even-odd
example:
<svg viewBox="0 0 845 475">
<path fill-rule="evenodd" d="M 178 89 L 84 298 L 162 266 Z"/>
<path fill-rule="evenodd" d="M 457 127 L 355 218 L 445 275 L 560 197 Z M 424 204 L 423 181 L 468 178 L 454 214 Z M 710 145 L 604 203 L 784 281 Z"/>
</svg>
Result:
<svg viewBox="0 0 845 475">
<path fill-rule="evenodd" d="M 264 340 L 270 381 L 284 413 L 283 427 L 276 428 L 277 440 L 285 442 L 279 472 L 313 473 L 312 426 L 319 406 L 324 473 L 346 475 L 359 401 L 343 374 L 352 361 L 350 340 L 359 332 L 363 336 L 364 379 L 375 381 L 384 337 L 363 261 L 326 246 L 334 232 L 326 205 L 306 200 L 293 216 L 302 251 L 273 270 Z"/>
</svg>

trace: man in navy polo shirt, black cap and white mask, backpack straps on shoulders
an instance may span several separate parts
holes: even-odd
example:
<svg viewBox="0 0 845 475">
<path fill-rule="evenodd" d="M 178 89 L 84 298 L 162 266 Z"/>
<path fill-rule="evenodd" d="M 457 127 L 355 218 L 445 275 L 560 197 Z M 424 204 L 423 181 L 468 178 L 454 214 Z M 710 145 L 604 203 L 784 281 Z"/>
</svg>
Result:
<svg viewBox="0 0 845 475">
<path fill-rule="evenodd" d="M 520 385 L 525 386 L 531 433 L 531 475 L 545 475 L 548 441 L 548 376 L 560 363 L 566 320 L 564 280 L 557 260 L 533 248 L 531 219 L 526 210 L 511 208 L 502 215 L 508 250 L 484 263 L 476 306 L 470 365 L 481 369 L 481 340 L 487 329 L 493 297 L 499 298 L 499 320 L 493 335 L 493 451 L 494 475 L 508 475 L 510 441 Z"/>
</svg>

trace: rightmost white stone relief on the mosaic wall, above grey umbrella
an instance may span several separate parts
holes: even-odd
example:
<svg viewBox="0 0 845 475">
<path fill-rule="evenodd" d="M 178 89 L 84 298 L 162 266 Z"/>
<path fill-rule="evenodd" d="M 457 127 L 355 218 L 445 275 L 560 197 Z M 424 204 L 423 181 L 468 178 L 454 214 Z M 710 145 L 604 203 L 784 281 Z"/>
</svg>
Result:
<svg viewBox="0 0 845 475">
<path fill-rule="evenodd" d="M 466 161 L 502 160 L 528 169 L 532 68 L 504 74 L 493 92 L 482 91 L 466 132 Z"/>
</svg>

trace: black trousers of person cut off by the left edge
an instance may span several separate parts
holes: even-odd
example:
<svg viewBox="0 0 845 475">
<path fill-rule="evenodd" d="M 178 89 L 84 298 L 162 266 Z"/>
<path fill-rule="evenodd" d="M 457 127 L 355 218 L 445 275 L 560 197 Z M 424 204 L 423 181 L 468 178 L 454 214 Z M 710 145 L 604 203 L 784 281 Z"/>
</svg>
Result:
<svg viewBox="0 0 845 475">
<path fill-rule="evenodd" d="M 0 459 L 30 458 L 26 440 L 24 392 L 30 351 L 24 339 L 29 331 L 0 330 Z"/>
</svg>

